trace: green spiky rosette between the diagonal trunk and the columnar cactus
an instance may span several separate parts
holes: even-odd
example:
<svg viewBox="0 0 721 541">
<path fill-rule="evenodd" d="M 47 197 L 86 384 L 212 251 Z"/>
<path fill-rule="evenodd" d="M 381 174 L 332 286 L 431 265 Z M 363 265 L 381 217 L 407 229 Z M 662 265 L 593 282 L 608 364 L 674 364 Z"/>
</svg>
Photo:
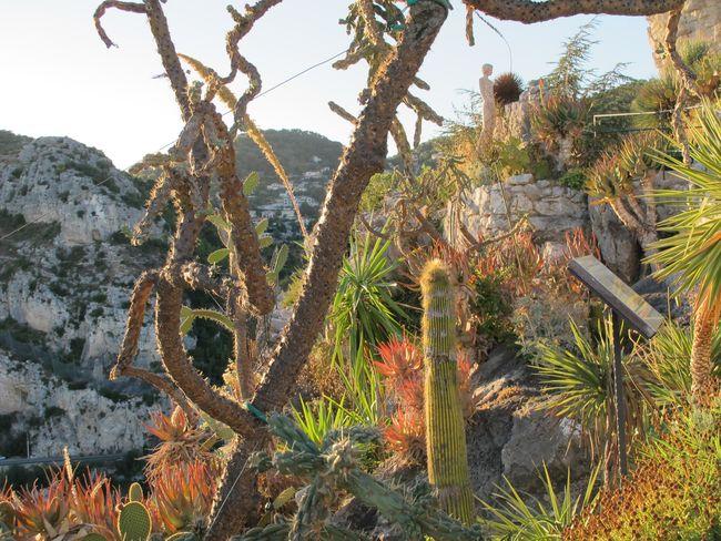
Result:
<svg viewBox="0 0 721 541">
<path fill-rule="evenodd" d="M 390 241 L 366 235 L 351 242 L 351 255 L 343 262 L 331 320 L 335 333 L 334 359 L 358 358 L 363 345 L 375 349 L 389 337 L 400 334 L 405 313 L 393 299 L 393 273 L 396 262 L 389 256 Z"/>
</svg>

